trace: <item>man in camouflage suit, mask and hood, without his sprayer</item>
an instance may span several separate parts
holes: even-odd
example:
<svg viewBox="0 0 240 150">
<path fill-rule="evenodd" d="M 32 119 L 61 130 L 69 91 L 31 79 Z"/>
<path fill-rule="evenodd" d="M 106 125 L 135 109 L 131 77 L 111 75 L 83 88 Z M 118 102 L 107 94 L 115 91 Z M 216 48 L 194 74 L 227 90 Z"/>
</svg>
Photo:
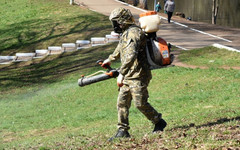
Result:
<svg viewBox="0 0 240 150">
<path fill-rule="evenodd" d="M 128 115 L 131 100 L 147 119 L 155 124 L 153 132 L 163 131 L 166 122 L 161 119 L 161 114 L 148 103 L 147 86 L 152 75 L 145 50 L 146 36 L 141 28 L 135 25 L 133 16 L 128 9 L 114 9 L 109 19 L 113 24 L 114 31 L 122 34 L 117 48 L 102 65 L 104 67 L 111 61 L 121 59 L 117 78 L 117 85 L 120 87 L 117 101 L 118 131 L 115 136 L 110 138 L 110 141 L 118 137 L 130 137 Z"/>
</svg>

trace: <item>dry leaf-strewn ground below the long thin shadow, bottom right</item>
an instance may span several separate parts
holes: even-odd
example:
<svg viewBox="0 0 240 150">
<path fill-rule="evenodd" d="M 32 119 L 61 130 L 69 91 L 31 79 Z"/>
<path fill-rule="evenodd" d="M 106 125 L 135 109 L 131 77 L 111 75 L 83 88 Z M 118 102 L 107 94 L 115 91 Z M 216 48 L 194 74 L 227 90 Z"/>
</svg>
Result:
<svg viewBox="0 0 240 150">
<path fill-rule="evenodd" d="M 189 129 L 173 129 L 165 131 L 165 135 L 159 133 L 155 138 L 144 136 L 140 141 L 134 138 L 122 140 L 113 144 L 114 149 L 213 149 L 213 150 L 240 150 L 239 126 L 214 125 L 210 127 L 193 127 L 193 133 Z M 204 132 L 207 131 L 207 132 Z M 205 143 L 206 139 L 212 140 Z M 218 144 L 215 144 L 216 141 Z M 156 146 L 157 145 L 157 146 Z M 153 146 L 153 147 L 152 147 Z M 212 148 L 213 147 L 213 148 Z"/>
</svg>

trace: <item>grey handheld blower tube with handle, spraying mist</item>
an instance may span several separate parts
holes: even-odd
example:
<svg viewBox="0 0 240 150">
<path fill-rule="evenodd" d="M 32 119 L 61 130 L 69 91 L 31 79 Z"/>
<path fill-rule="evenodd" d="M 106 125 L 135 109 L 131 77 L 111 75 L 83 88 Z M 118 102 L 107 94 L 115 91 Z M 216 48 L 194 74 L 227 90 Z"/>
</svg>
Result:
<svg viewBox="0 0 240 150">
<path fill-rule="evenodd" d="M 103 63 L 103 60 L 97 61 L 97 64 L 100 66 L 102 65 L 102 63 Z M 111 68 L 110 64 L 105 64 L 104 68 L 106 68 L 107 71 L 98 71 L 98 72 L 91 74 L 89 76 L 86 76 L 86 77 L 82 75 L 82 78 L 80 78 L 78 80 L 78 85 L 83 87 L 85 85 L 104 81 L 104 80 L 107 80 L 110 78 L 116 78 L 119 75 L 118 70 Z M 99 73 L 101 73 L 101 74 L 99 74 Z"/>
</svg>

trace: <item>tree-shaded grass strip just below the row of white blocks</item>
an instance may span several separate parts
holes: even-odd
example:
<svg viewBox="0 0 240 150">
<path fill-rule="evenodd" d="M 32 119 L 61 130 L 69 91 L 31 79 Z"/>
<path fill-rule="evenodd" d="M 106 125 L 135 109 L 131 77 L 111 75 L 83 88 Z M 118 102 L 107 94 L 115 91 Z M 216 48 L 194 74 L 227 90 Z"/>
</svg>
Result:
<svg viewBox="0 0 240 150">
<path fill-rule="evenodd" d="M 79 73 L 80 77 L 84 69 L 92 68 L 96 66 L 97 60 L 107 58 L 115 46 L 116 44 L 112 43 L 101 47 L 47 56 L 39 62 L 31 62 L 20 68 L 19 65 L 29 62 L 13 63 L 11 66 L 0 69 L 0 89 L 4 92 L 23 86 L 53 83 L 71 73 Z M 99 67 L 99 69 L 102 68 Z"/>
</svg>

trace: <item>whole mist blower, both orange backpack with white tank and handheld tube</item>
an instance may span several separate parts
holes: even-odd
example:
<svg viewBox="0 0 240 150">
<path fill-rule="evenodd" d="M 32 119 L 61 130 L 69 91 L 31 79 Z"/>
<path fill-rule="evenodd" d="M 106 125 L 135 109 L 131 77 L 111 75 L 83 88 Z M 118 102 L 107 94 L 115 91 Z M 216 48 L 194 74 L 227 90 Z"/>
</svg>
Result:
<svg viewBox="0 0 240 150">
<path fill-rule="evenodd" d="M 156 32 L 159 30 L 160 20 L 155 11 L 142 13 L 139 19 L 140 27 L 147 36 L 146 52 L 148 63 L 152 69 L 170 65 L 174 58 L 170 54 L 170 44 L 167 44 L 164 39 L 157 37 Z M 102 65 L 102 63 L 103 60 L 97 61 L 98 65 Z M 108 69 L 107 71 L 98 71 L 89 76 L 82 75 L 82 78 L 78 80 L 78 85 L 83 87 L 110 78 L 116 78 L 119 75 L 118 69 L 111 68 L 109 64 L 105 67 Z"/>
</svg>

